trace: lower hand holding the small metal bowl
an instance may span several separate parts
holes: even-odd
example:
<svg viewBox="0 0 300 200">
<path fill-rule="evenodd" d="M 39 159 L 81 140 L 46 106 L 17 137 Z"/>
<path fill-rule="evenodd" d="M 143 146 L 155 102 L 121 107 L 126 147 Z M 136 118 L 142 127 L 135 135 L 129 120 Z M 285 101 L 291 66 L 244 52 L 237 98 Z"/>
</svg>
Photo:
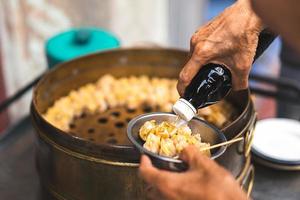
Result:
<svg viewBox="0 0 300 200">
<path fill-rule="evenodd" d="M 183 173 L 159 170 L 143 155 L 141 177 L 152 186 L 152 199 L 172 200 L 243 200 L 247 199 L 235 179 L 193 146 L 185 148 L 181 159 L 189 170 Z M 151 192 L 150 189 L 147 193 Z"/>
</svg>

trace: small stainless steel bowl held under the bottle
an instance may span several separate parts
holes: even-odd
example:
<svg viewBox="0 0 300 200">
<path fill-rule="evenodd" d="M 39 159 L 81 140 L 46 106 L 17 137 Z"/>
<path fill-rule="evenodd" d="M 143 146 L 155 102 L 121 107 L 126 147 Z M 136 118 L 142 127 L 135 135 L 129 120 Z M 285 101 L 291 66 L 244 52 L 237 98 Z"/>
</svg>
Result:
<svg viewBox="0 0 300 200">
<path fill-rule="evenodd" d="M 129 122 L 127 127 L 127 136 L 140 153 L 146 154 L 150 157 L 153 165 L 157 168 L 170 171 L 185 171 L 188 168 L 186 163 L 179 159 L 160 156 L 148 151 L 143 147 L 144 141 L 139 136 L 139 130 L 146 121 L 156 120 L 156 122 L 161 123 L 163 121 L 175 121 L 175 119 L 176 115 L 163 112 L 154 112 L 137 116 Z M 191 128 L 193 133 L 197 132 L 201 134 L 203 142 L 208 142 L 211 145 L 226 142 L 226 137 L 219 129 L 199 118 L 193 118 L 188 123 L 188 126 Z M 218 158 L 225 152 L 225 150 L 226 146 L 213 149 L 211 151 L 211 159 Z"/>
</svg>

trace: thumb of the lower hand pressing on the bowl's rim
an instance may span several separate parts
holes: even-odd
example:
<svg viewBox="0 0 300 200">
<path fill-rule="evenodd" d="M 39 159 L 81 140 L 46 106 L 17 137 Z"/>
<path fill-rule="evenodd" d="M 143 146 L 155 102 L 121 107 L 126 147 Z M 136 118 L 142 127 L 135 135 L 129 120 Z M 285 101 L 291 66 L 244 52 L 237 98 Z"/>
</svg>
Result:
<svg viewBox="0 0 300 200">
<path fill-rule="evenodd" d="M 195 146 L 188 146 L 183 149 L 180 154 L 180 158 L 187 162 L 190 169 L 195 168 L 207 168 L 208 164 L 212 162 L 210 158 L 201 154 L 198 148 Z"/>
</svg>

